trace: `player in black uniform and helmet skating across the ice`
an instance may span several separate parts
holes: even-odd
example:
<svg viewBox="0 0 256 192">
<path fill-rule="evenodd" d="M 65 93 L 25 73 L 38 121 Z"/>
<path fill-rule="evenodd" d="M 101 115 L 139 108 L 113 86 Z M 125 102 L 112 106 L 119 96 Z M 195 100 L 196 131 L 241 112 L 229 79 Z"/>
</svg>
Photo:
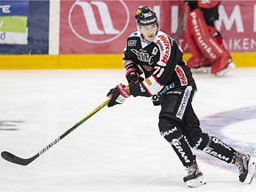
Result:
<svg viewBox="0 0 256 192">
<path fill-rule="evenodd" d="M 220 139 L 202 132 L 191 104 L 196 92 L 195 80 L 182 60 L 180 46 L 158 30 L 156 12 L 148 6 L 142 7 L 136 11 L 135 19 L 138 31 L 128 37 L 123 59 L 130 84 L 118 84 L 108 92 L 108 97 L 111 97 L 108 107 L 124 103 L 130 95 L 152 97 L 155 105 L 161 105 L 159 130 L 187 167 L 188 174 L 183 180 L 188 187 L 205 184 L 191 148 L 235 164 L 239 180 L 251 183 L 255 158 L 239 153 Z"/>
</svg>

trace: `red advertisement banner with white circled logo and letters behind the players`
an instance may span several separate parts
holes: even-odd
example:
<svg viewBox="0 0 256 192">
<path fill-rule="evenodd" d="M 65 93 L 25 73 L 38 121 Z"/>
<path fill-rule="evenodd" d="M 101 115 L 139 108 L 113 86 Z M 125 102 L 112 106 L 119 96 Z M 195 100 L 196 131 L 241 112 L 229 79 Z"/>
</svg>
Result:
<svg viewBox="0 0 256 192">
<path fill-rule="evenodd" d="M 87 1 L 61 0 L 60 54 L 122 53 L 126 39 L 137 30 L 135 11 L 148 5 L 154 9 L 160 28 L 174 36 L 183 1 Z M 251 1 L 223 1 L 216 28 L 230 52 L 256 51 L 256 5 Z M 180 37 L 180 46 L 188 44 Z"/>
</svg>

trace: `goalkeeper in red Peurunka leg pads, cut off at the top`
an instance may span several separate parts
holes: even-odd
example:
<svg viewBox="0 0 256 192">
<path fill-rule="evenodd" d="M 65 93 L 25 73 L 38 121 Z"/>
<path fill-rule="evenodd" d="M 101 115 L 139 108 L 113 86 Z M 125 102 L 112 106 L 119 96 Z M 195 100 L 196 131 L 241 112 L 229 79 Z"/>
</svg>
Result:
<svg viewBox="0 0 256 192">
<path fill-rule="evenodd" d="M 222 42 L 220 32 L 214 26 L 214 21 L 219 19 L 220 1 L 185 2 L 185 5 L 188 4 L 183 18 L 185 40 L 192 53 L 187 61 L 188 67 L 194 68 L 194 71 L 204 69 L 206 72 L 212 68 L 213 76 L 224 76 L 235 68 L 235 64 Z"/>
</svg>

